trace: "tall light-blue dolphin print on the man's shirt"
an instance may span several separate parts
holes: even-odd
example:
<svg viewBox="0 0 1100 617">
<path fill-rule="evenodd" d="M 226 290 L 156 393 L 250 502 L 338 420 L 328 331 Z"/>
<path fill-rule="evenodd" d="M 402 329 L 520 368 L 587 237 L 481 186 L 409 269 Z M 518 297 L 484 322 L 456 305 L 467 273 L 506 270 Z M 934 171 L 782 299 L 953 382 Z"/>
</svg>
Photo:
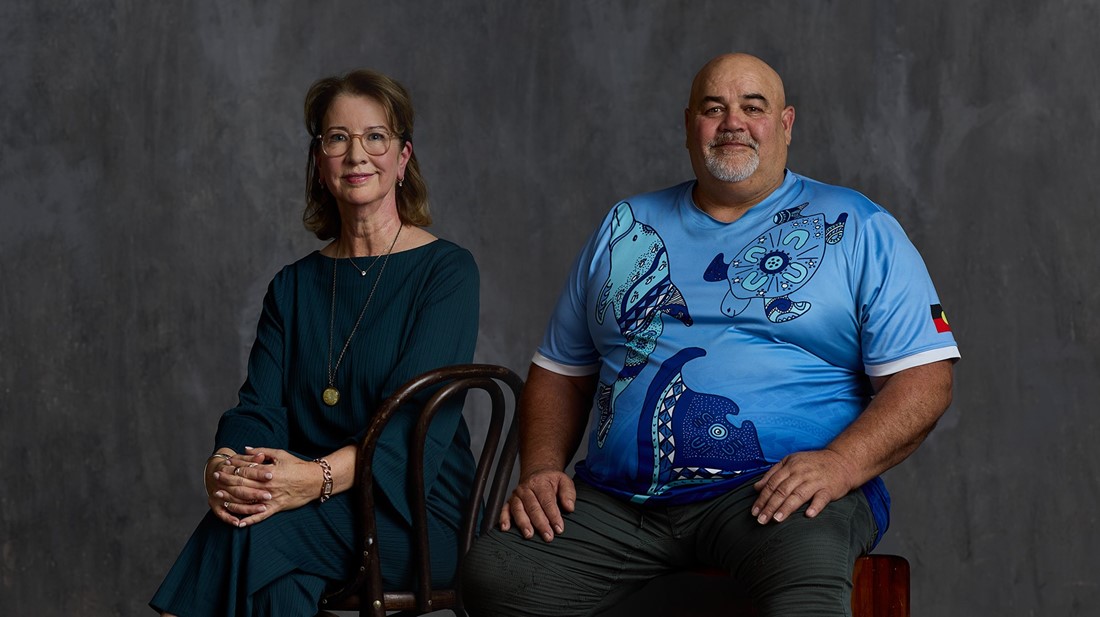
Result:
<svg viewBox="0 0 1100 617">
<path fill-rule="evenodd" d="M 596 323 L 604 322 L 610 306 L 626 340 L 626 361 L 614 384 L 600 384 L 596 408 L 596 445 L 603 448 L 615 417 L 615 399 L 649 361 L 664 331 L 661 315 L 691 326 L 691 315 L 680 289 L 669 276 L 669 254 L 653 228 L 637 221 L 626 201 L 615 207 L 610 229 L 610 271 L 596 302 Z"/>
</svg>

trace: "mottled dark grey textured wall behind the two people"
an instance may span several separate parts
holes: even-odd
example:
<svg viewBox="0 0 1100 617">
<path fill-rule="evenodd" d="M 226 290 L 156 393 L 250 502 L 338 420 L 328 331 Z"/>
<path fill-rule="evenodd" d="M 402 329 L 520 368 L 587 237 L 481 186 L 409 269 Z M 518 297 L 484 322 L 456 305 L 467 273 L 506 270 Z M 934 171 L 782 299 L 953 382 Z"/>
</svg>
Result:
<svg viewBox="0 0 1100 617">
<path fill-rule="evenodd" d="M 414 95 L 433 230 L 525 371 L 575 250 L 690 174 L 695 69 L 761 55 L 791 167 L 887 206 L 963 348 L 888 475 L 915 616 L 1100 614 L 1098 3 L 130 2 L 0 8 L 0 614 L 138 615 L 205 508 L 299 221 L 317 77 Z"/>
</svg>

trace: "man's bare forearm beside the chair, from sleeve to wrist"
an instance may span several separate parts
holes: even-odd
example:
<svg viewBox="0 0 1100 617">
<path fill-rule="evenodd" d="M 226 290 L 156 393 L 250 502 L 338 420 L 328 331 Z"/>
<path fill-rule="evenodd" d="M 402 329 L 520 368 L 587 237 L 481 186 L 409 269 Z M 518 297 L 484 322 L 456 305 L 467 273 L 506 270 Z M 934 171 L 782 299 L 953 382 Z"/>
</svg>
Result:
<svg viewBox="0 0 1100 617">
<path fill-rule="evenodd" d="M 519 401 L 520 477 L 562 471 L 584 437 L 598 375 L 570 377 L 532 364 Z"/>
</svg>

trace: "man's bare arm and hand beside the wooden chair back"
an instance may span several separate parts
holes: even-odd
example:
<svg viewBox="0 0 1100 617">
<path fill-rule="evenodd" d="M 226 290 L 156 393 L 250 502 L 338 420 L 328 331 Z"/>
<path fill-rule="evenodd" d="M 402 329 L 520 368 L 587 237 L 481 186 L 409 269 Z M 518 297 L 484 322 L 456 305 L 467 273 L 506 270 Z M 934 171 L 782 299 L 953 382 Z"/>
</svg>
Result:
<svg viewBox="0 0 1100 617">
<path fill-rule="evenodd" d="M 519 400 L 519 485 L 501 510 L 503 531 L 515 525 L 524 538 L 538 532 L 547 542 L 564 531 L 561 510 L 573 511 L 576 499 L 564 470 L 588 426 L 597 379 L 531 364 Z"/>
</svg>

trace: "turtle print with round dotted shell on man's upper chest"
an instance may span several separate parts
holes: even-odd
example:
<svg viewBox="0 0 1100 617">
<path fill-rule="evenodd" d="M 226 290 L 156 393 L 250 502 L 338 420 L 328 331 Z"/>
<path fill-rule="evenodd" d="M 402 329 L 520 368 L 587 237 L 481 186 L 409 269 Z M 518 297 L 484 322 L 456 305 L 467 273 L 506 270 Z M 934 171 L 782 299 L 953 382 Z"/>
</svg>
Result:
<svg viewBox="0 0 1100 617">
<path fill-rule="evenodd" d="M 842 212 L 836 222 L 826 224 L 824 214 L 802 213 L 809 205 L 807 201 L 776 214 L 772 219 L 776 227 L 738 251 L 728 264 L 723 253 L 718 253 L 707 266 L 705 280 L 729 283 L 729 291 L 722 300 L 726 317 L 737 317 L 756 298 L 763 300 L 765 315 L 773 323 L 796 319 L 810 310 L 809 301 L 795 301 L 790 296 L 813 278 L 825 246 L 844 238 L 848 213 Z"/>
</svg>

